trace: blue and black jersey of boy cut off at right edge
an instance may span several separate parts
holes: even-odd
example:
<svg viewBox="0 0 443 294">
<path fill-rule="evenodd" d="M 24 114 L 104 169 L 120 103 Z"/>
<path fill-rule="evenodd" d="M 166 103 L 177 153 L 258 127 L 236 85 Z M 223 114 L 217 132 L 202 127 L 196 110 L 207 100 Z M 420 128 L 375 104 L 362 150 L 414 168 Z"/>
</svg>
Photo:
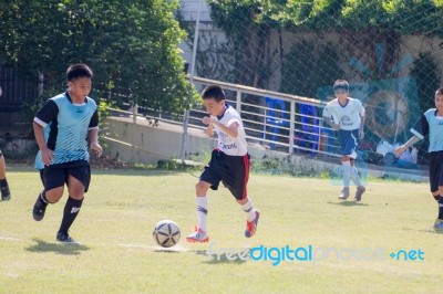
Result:
<svg viewBox="0 0 443 294">
<path fill-rule="evenodd" d="M 429 151 L 443 150 L 443 117 L 437 116 L 436 108 L 431 108 L 411 128 L 414 136 L 423 139 L 429 135 Z"/>
</svg>

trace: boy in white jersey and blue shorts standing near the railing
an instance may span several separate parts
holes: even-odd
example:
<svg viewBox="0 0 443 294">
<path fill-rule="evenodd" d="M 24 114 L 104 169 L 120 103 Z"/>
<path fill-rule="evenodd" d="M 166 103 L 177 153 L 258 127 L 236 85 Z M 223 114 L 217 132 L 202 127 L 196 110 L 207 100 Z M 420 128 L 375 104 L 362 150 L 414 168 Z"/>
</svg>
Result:
<svg viewBox="0 0 443 294">
<path fill-rule="evenodd" d="M 339 199 L 348 199 L 350 179 L 357 186 L 356 201 L 360 201 L 365 188 L 361 185 L 356 167 L 358 139 L 364 136 L 364 108 L 361 102 L 349 97 L 349 84 L 338 80 L 333 84 L 336 98 L 329 102 L 323 112 L 323 119 L 339 132 L 341 164 L 343 166 L 343 189 Z M 331 119 L 332 117 L 332 119 Z"/>
</svg>

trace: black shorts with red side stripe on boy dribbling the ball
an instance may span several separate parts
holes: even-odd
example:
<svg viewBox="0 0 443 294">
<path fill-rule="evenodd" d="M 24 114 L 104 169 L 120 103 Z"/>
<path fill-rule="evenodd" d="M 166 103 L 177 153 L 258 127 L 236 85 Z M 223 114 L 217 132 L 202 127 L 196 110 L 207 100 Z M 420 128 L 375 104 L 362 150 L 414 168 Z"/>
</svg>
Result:
<svg viewBox="0 0 443 294">
<path fill-rule="evenodd" d="M 249 179 L 249 159 L 248 154 L 230 156 L 214 149 L 209 164 L 202 172 L 200 180 L 209 182 L 213 190 L 217 190 L 222 181 L 236 199 L 243 200 L 248 196 L 246 186 Z"/>
</svg>

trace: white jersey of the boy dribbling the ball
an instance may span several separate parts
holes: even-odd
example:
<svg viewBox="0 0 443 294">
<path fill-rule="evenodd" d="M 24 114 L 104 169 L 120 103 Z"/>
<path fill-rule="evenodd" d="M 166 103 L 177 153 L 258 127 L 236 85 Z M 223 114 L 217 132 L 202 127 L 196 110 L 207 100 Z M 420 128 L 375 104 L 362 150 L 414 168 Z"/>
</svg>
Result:
<svg viewBox="0 0 443 294">
<path fill-rule="evenodd" d="M 248 153 L 246 144 L 246 133 L 243 127 L 243 122 L 240 115 L 233 108 L 233 106 L 227 105 L 227 108 L 223 116 L 212 116 L 214 119 L 218 119 L 225 126 L 230 126 L 233 123 L 238 124 L 238 136 L 237 138 L 231 138 L 226 135 L 219 127 L 214 124 L 214 129 L 218 135 L 218 149 L 227 155 L 231 156 L 244 156 Z"/>
</svg>

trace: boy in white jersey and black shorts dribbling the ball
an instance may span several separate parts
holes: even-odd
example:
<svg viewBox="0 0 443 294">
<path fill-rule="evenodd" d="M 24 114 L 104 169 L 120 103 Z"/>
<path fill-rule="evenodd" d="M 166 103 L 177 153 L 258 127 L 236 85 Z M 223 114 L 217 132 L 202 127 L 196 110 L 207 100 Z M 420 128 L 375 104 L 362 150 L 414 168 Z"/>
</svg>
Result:
<svg viewBox="0 0 443 294">
<path fill-rule="evenodd" d="M 214 129 L 217 132 L 218 147 L 213 150 L 210 161 L 195 187 L 198 227 L 186 240 L 192 243 L 209 241 L 206 193 L 209 188 L 217 190 L 220 181 L 246 212 L 245 237 L 250 238 L 257 230 L 260 212 L 253 208 L 246 190 L 250 162 L 243 120 L 240 115 L 226 103 L 222 87 L 207 86 L 202 93 L 202 98 L 210 115 L 205 116 L 202 122 L 208 126 L 208 134 L 212 134 Z"/>
</svg>

